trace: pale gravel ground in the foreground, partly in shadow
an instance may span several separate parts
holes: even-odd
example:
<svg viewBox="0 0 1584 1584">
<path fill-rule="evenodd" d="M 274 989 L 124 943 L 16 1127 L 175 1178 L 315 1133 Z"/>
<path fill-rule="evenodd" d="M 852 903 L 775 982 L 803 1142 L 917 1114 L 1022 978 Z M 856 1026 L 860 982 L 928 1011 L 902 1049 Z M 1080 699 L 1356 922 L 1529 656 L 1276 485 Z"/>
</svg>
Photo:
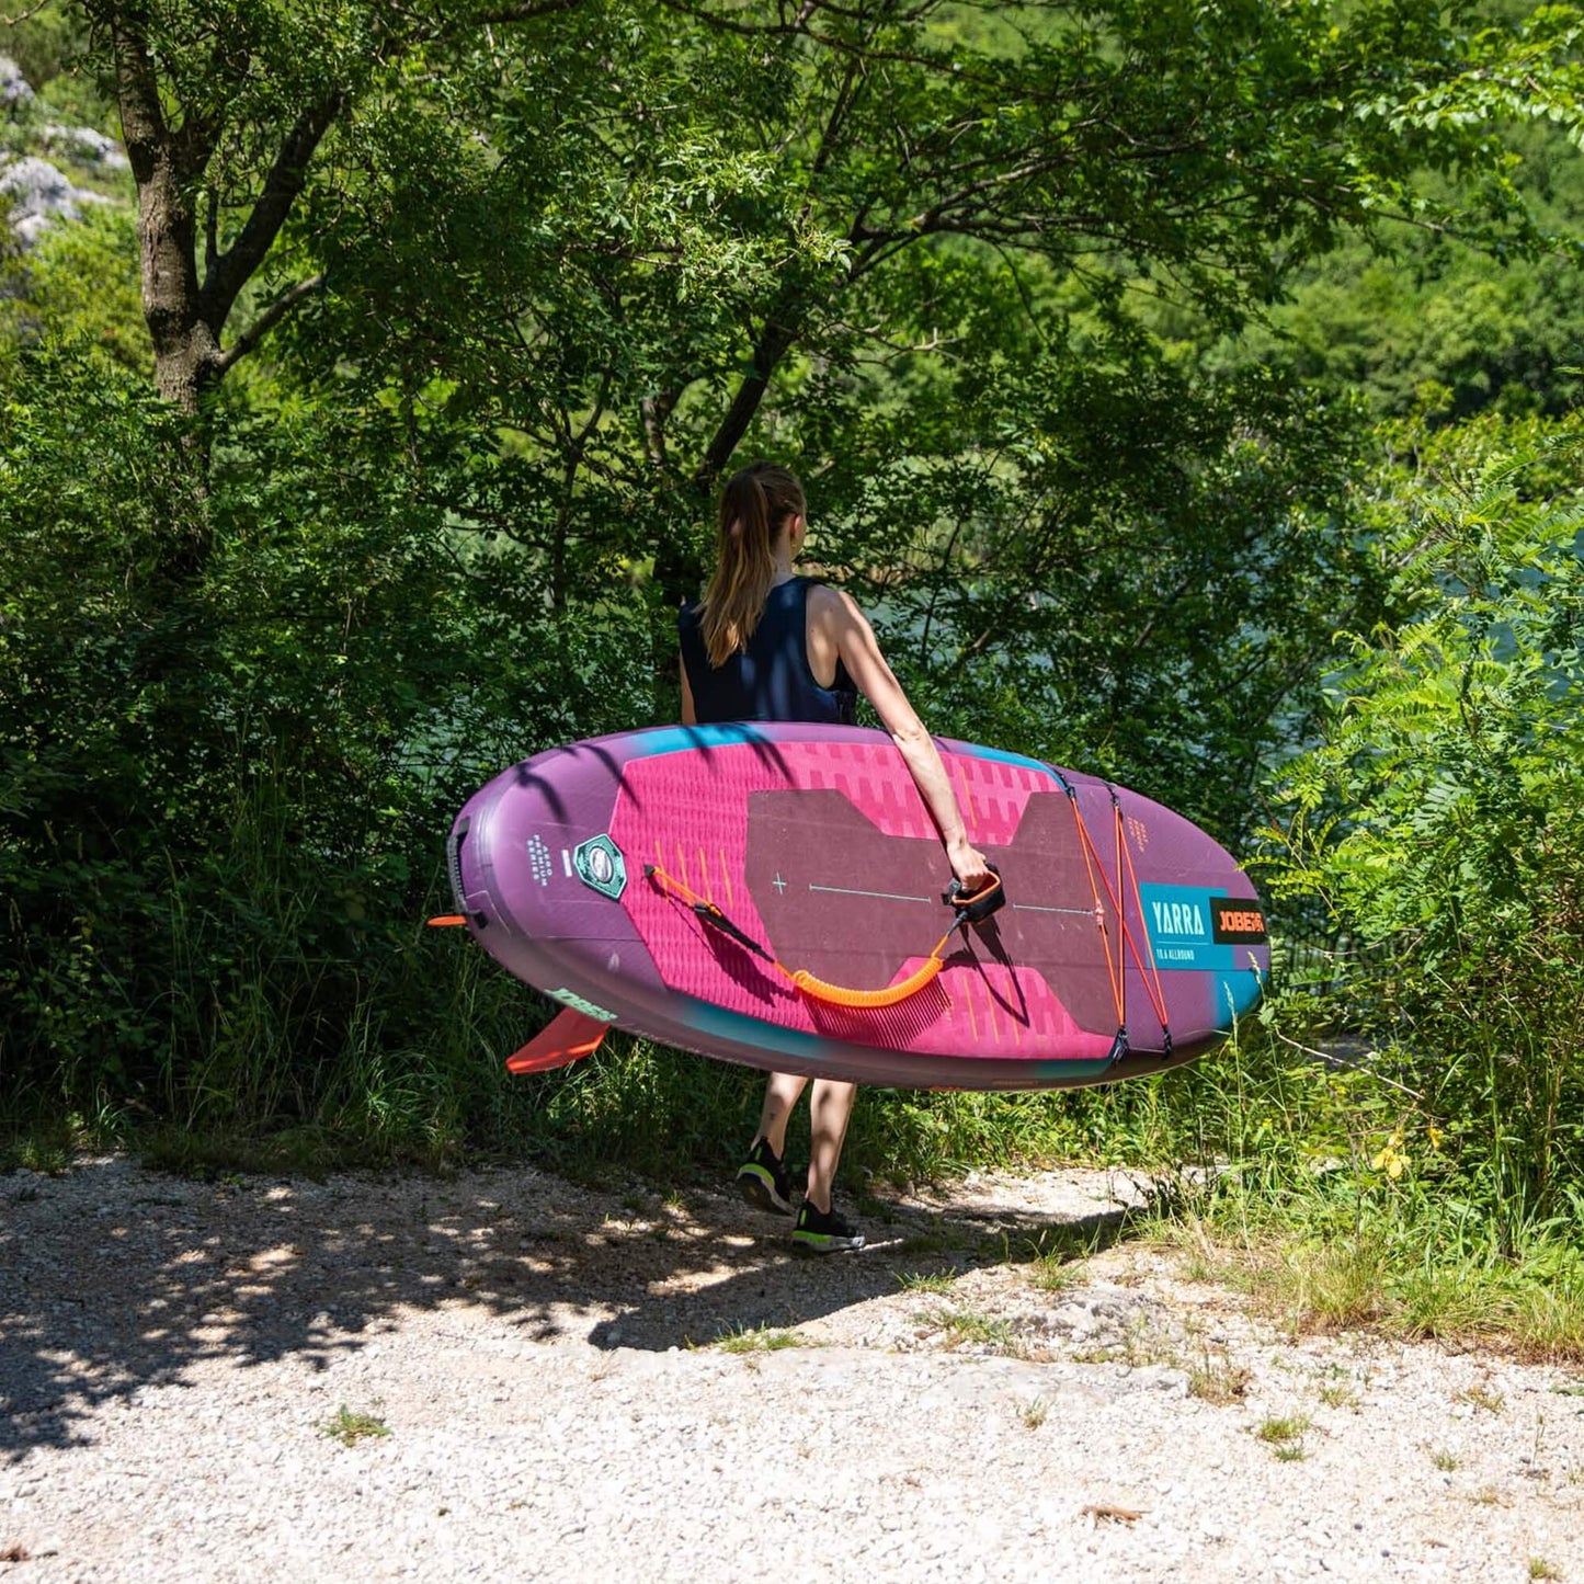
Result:
<svg viewBox="0 0 1584 1584">
<path fill-rule="evenodd" d="M 13 1174 L 0 1576 L 1584 1581 L 1576 1378 L 1283 1337 L 1131 1196 L 971 1178 L 808 1261 L 526 1169 Z"/>
</svg>

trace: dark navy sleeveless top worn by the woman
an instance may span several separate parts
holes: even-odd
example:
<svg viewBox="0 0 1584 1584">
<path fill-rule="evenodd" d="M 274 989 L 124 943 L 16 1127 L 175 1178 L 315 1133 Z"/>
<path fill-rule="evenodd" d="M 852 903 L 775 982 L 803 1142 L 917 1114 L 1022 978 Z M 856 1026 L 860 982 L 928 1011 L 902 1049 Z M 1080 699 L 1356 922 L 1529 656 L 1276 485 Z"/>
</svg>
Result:
<svg viewBox="0 0 1584 1584">
<path fill-rule="evenodd" d="M 830 687 L 814 681 L 808 664 L 809 583 L 813 578 L 778 583 L 765 599 L 765 613 L 748 640 L 748 653 L 738 651 L 724 665 L 710 664 L 699 607 L 683 607 L 676 626 L 700 725 L 716 721 L 857 722 L 859 689 L 841 661 Z"/>
</svg>

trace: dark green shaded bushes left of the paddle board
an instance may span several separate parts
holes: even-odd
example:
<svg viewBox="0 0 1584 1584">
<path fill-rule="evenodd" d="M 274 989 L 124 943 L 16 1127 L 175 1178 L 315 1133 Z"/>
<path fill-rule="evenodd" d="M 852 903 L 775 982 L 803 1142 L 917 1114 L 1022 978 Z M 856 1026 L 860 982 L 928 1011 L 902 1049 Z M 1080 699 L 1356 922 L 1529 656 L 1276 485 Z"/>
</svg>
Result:
<svg viewBox="0 0 1584 1584">
<path fill-rule="evenodd" d="M 425 936 L 432 832 L 564 738 L 569 706 L 630 719 L 619 623 L 482 648 L 497 584 L 386 447 L 244 421 L 200 488 L 185 423 L 141 386 L 51 355 L 25 372 L 0 429 L 13 1104 L 458 1139 L 526 993 Z"/>
</svg>

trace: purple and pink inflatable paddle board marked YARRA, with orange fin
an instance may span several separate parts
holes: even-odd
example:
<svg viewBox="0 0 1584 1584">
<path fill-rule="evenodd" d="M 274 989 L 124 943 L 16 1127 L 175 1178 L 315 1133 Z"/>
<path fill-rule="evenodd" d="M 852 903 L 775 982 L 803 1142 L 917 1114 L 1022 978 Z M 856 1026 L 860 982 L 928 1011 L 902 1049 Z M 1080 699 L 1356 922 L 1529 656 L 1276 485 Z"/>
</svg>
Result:
<svg viewBox="0 0 1584 1584">
<path fill-rule="evenodd" d="M 1210 836 L 1095 776 L 939 748 L 1004 884 L 977 908 L 942 898 L 881 732 L 659 727 L 496 776 L 451 830 L 458 917 L 436 922 L 570 1009 L 508 1066 L 616 1023 L 771 1071 L 1066 1088 L 1188 1061 L 1255 1006 L 1264 909 Z"/>
</svg>

